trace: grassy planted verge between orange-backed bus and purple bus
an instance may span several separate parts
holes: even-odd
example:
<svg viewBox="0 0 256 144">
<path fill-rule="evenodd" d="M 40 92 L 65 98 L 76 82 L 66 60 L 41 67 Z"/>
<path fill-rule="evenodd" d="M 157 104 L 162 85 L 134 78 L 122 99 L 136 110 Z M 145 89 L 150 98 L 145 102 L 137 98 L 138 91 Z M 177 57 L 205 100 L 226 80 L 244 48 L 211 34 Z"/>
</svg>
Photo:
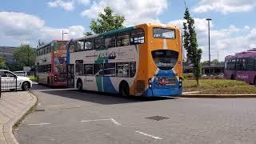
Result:
<svg viewBox="0 0 256 144">
<path fill-rule="evenodd" d="M 246 82 L 228 79 L 201 79 L 200 85 L 195 80 L 183 81 L 184 92 L 200 91 L 198 94 L 256 94 L 256 87 Z"/>
</svg>

